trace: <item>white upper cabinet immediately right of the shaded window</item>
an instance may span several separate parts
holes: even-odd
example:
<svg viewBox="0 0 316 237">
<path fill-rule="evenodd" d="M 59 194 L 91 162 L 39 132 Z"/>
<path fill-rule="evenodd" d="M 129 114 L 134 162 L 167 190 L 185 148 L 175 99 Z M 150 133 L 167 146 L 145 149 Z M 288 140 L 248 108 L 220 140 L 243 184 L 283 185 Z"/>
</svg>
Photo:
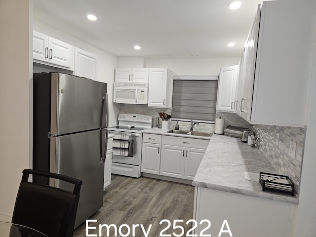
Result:
<svg viewBox="0 0 316 237">
<path fill-rule="evenodd" d="M 217 111 L 234 112 L 238 65 L 221 68 L 217 92 Z"/>
</svg>

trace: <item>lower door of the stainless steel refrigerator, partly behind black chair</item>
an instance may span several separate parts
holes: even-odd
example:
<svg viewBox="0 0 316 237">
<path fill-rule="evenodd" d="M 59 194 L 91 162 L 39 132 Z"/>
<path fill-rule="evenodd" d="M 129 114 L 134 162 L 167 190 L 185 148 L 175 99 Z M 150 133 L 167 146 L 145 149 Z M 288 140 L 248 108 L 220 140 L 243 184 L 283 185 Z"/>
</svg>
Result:
<svg viewBox="0 0 316 237">
<path fill-rule="evenodd" d="M 101 162 L 101 152 L 106 152 L 105 131 L 51 137 L 50 172 L 82 180 L 75 228 L 103 206 L 104 163 Z M 73 185 L 63 181 L 56 182 L 55 186 L 73 190 Z"/>
</svg>

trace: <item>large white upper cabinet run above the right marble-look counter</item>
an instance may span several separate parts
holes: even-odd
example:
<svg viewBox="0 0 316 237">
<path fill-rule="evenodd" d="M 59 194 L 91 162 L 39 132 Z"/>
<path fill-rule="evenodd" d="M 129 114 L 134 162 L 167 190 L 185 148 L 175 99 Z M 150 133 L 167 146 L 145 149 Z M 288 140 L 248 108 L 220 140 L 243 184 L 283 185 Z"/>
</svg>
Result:
<svg viewBox="0 0 316 237">
<path fill-rule="evenodd" d="M 313 14 L 309 1 L 263 1 L 258 7 L 239 64 L 235 111 L 242 118 L 253 124 L 306 125 Z"/>
</svg>

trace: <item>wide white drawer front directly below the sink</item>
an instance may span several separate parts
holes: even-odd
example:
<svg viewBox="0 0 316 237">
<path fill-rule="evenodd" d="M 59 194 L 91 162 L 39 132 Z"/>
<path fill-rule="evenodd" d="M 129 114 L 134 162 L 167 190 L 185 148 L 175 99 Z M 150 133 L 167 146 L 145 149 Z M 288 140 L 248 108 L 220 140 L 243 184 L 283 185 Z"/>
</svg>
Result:
<svg viewBox="0 0 316 237">
<path fill-rule="evenodd" d="M 195 139 L 187 137 L 162 136 L 161 144 L 179 147 L 192 147 L 206 149 L 209 140 Z"/>
</svg>

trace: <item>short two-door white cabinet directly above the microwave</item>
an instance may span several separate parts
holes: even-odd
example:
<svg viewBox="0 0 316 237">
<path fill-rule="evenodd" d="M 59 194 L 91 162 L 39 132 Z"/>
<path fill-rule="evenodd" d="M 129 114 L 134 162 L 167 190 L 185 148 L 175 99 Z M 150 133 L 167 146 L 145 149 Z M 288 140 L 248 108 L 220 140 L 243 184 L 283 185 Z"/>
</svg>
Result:
<svg viewBox="0 0 316 237">
<path fill-rule="evenodd" d="M 149 68 L 116 68 L 115 82 L 148 83 Z"/>
</svg>

